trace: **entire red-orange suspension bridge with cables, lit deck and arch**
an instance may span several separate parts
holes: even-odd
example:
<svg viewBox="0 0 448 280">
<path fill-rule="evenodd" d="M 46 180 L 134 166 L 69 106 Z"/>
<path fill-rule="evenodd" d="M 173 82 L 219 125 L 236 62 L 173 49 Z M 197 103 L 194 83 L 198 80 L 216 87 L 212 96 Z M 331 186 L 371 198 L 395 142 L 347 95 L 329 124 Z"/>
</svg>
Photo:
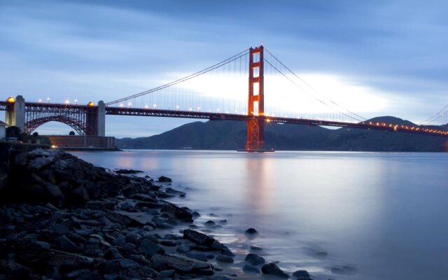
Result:
<svg viewBox="0 0 448 280">
<path fill-rule="evenodd" d="M 419 125 L 372 123 L 318 92 L 260 45 L 202 71 L 111 102 L 62 104 L 22 96 L 0 102 L 6 124 L 31 134 L 56 121 L 80 135 L 104 137 L 106 115 L 239 120 L 247 123 L 244 151 L 265 150 L 269 123 L 321 125 L 447 137 L 448 105 Z M 242 147 L 241 147 L 242 148 Z"/>
</svg>

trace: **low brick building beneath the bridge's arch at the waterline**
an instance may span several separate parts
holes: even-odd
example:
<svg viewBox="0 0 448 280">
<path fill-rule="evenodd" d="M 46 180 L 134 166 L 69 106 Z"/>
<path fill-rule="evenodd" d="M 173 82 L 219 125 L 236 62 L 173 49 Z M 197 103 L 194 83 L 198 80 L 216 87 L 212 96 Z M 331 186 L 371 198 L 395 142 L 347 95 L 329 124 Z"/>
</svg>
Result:
<svg viewBox="0 0 448 280">
<path fill-rule="evenodd" d="M 115 137 L 92 135 L 45 135 L 54 146 L 60 148 L 116 148 Z"/>
</svg>

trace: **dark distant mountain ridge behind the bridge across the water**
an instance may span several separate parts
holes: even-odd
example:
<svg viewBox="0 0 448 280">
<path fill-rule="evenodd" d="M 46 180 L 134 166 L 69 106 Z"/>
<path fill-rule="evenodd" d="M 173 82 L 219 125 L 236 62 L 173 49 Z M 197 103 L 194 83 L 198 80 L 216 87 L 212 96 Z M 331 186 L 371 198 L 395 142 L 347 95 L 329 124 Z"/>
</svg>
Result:
<svg viewBox="0 0 448 280">
<path fill-rule="evenodd" d="M 414 125 L 391 116 L 372 118 L 374 123 Z M 442 126 L 447 129 L 447 125 Z M 419 134 L 276 124 L 266 125 L 265 144 L 277 151 L 448 151 L 448 139 Z M 118 148 L 236 150 L 246 145 L 246 123 L 232 120 L 194 122 L 151 137 L 116 139 Z"/>
</svg>

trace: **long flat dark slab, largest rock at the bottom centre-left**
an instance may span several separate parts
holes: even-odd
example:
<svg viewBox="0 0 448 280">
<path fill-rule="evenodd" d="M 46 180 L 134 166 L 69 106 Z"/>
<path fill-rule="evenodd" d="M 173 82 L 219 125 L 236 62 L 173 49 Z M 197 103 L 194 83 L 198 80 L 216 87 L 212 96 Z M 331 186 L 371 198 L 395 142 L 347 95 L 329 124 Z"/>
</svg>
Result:
<svg viewBox="0 0 448 280">
<path fill-rule="evenodd" d="M 152 266 L 159 271 L 176 269 L 178 272 L 197 272 L 199 269 L 214 269 L 214 266 L 207 262 L 175 254 L 153 255 L 151 261 L 153 262 Z"/>
</svg>

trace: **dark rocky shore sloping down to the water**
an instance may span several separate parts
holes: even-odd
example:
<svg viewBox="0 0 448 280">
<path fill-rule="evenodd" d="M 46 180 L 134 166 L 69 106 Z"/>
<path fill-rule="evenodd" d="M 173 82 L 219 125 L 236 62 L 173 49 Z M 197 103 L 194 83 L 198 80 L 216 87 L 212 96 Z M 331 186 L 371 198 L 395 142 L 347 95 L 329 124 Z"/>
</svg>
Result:
<svg viewBox="0 0 448 280">
<path fill-rule="evenodd" d="M 235 254 L 191 224 L 200 214 L 167 201 L 186 193 L 168 177 L 136 173 L 109 172 L 57 150 L 11 158 L 0 188 L 0 280 L 310 279 L 267 263 L 255 247 L 240 272 L 230 269 Z"/>
</svg>

